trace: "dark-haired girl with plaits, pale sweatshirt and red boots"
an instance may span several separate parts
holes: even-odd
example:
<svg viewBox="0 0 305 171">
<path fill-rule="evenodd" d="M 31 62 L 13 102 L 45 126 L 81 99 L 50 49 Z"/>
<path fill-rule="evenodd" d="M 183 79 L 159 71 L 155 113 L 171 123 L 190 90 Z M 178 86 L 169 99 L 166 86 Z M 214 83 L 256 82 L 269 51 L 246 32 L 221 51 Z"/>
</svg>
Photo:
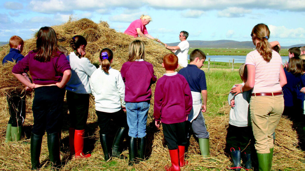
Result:
<svg viewBox="0 0 305 171">
<path fill-rule="evenodd" d="M 72 76 L 67 83 L 67 104 L 70 115 L 69 142 L 70 158 L 75 154 L 77 157 L 90 157 L 84 154 L 84 132 L 88 118 L 89 95 L 91 93 L 89 77 L 96 67 L 85 58 L 87 41 L 83 36 L 74 36 L 70 40 L 74 52 L 67 59 L 72 68 Z"/>
</svg>

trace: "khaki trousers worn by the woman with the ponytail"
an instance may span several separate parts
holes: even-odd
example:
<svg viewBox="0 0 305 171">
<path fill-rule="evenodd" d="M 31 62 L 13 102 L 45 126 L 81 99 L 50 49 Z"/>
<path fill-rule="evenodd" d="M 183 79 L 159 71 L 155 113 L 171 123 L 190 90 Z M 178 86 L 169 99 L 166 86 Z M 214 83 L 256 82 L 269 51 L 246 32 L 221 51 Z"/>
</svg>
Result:
<svg viewBox="0 0 305 171">
<path fill-rule="evenodd" d="M 283 95 L 251 96 L 250 114 L 257 153 L 270 153 L 273 132 L 284 111 Z"/>
</svg>

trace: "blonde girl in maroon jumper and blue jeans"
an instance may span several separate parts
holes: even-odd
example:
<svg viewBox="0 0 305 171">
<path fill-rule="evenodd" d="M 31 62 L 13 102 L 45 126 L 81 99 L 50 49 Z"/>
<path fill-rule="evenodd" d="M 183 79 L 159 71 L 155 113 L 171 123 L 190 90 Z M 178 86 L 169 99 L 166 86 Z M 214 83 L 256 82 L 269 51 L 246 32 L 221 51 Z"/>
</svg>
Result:
<svg viewBox="0 0 305 171">
<path fill-rule="evenodd" d="M 154 75 L 152 64 L 144 61 L 144 44 L 141 40 L 131 42 L 128 51 L 128 61 L 123 64 L 121 74 L 125 83 L 130 136 L 128 164 L 133 165 L 137 156 L 140 160 L 144 159 L 147 113 L 152 95 L 150 87 L 156 82 L 157 77 Z"/>
</svg>

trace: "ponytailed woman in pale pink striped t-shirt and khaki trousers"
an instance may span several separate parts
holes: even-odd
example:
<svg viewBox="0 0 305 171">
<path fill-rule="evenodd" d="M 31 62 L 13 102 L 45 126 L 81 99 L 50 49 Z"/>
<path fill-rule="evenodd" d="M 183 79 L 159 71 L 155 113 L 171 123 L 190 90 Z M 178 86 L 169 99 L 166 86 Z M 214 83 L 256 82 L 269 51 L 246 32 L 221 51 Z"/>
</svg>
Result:
<svg viewBox="0 0 305 171">
<path fill-rule="evenodd" d="M 246 56 L 248 80 L 231 92 L 241 93 L 253 88 L 250 115 L 255 149 L 260 171 L 271 169 L 273 132 L 284 110 L 282 87 L 287 83 L 281 56 L 271 50 L 268 42 L 270 31 L 265 24 L 257 24 L 251 32 L 256 50 Z"/>
</svg>

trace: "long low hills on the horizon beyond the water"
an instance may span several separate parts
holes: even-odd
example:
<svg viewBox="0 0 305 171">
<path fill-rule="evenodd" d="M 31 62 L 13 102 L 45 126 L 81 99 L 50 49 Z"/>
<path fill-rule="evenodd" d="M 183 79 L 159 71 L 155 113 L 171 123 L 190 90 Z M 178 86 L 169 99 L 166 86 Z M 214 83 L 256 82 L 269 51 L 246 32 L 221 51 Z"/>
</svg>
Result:
<svg viewBox="0 0 305 171">
<path fill-rule="evenodd" d="M 167 43 L 169 46 L 177 46 L 180 42 Z M 234 40 L 190 40 L 188 41 L 192 48 L 255 48 L 252 41 L 239 42 Z M 282 46 L 282 49 L 289 49 L 291 47 L 305 46 L 305 44 L 297 44 L 292 46 Z"/>
</svg>

